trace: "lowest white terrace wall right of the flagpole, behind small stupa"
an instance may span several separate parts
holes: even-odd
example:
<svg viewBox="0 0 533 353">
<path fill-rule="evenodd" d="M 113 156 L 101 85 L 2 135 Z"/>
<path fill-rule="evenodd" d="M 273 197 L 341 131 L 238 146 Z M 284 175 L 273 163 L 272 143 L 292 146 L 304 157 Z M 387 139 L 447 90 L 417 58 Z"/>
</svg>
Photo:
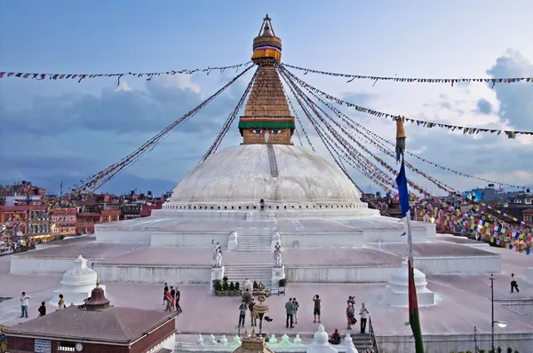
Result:
<svg viewBox="0 0 533 353">
<path fill-rule="evenodd" d="M 465 257 L 415 256 L 415 262 L 418 270 L 424 272 L 426 276 L 449 273 L 500 273 L 502 271 L 501 258 L 497 255 Z"/>
</svg>

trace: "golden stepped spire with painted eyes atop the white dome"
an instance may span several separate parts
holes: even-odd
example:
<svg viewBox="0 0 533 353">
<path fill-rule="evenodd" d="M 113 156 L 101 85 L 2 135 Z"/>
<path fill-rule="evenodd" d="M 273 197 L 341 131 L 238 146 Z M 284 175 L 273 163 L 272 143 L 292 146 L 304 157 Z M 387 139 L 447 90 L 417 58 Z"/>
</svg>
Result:
<svg viewBox="0 0 533 353">
<path fill-rule="evenodd" d="M 275 68 L 282 60 L 282 40 L 275 36 L 268 15 L 253 40 L 251 60 L 259 66 L 259 72 L 239 120 L 242 145 L 292 145 L 290 137 L 296 128 L 294 117 L 290 115 Z"/>
</svg>

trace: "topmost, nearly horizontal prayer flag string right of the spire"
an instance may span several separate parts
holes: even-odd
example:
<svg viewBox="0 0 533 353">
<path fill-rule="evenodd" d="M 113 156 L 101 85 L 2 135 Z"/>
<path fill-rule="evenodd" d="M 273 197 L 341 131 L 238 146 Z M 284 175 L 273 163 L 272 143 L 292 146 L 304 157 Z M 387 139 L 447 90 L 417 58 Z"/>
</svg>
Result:
<svg viewBox="0 0 533 353">
<path fill-rule="evenodd" d="M 280 64 L 283 67 L 290 67 L 296 70 L 304 71 L 304 75 L 308 73 L 319 74 L 319 75 L 328 75 L 335 77 L 349 78 L 347 82 L 352 82 L 355 79 L 357 80 L 371 80 L 374 81 L 374 84 L 378 81 L 393 81 L 393 82 L 417 82 L 417 83 L 451 83 L 451 87 L 455 82 L 481 82 L 481 83 L 492 83 L 492 87 L 496 83 L 514 83 L 514 82 L 533 82 L 533 77 L 501 77 L 501 78 L 418 78 L 418 77 L 387 77 L 387 76 L 371 76 L 371 75 L 351 75 L 351 74 L 338 74 L 328 71 L 313 70 L 306 67 L 297 67 L 289 64 Z M 491 87 L 491 88 L 492 88 Z"/>
</svg>

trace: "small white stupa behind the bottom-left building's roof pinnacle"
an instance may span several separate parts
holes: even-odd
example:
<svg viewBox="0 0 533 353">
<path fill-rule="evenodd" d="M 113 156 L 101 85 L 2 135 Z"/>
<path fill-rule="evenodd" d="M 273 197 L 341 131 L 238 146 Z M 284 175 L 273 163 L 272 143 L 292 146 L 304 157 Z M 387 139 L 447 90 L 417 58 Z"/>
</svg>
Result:
<svg viewBox="0 0 533 353">
<path fill-rule="evenodd" d="M 79 255 L 74 263 L 74 268 L 63 275 L 60 289 L 53 291 L 52 299 L 48 302 L 49 305 L 58 307 L 60 294 L 63 294 L 67 306 L 71 304 L 82 305 L 85 299 L 91 297 L 91 291 L 98 280 L 96 271 L 87 267 L 87 260 L 82 255 Z M 100 287 L 104 291 L 106 290 L 106 286 L 100 285 Z"/>
</svg>

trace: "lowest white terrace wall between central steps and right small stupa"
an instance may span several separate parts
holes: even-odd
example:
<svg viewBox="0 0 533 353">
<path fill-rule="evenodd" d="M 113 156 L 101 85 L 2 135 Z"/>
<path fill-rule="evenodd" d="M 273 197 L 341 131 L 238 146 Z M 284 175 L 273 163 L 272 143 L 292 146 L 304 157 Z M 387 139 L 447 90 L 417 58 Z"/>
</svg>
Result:
<svg viewBox="0 0 533 353">
<path fill-rule="evenodd" d="M 402 266 L 305 266 L 286 265 L 285 277 L 292 283 L 388 282 Z"/>
</svg>

